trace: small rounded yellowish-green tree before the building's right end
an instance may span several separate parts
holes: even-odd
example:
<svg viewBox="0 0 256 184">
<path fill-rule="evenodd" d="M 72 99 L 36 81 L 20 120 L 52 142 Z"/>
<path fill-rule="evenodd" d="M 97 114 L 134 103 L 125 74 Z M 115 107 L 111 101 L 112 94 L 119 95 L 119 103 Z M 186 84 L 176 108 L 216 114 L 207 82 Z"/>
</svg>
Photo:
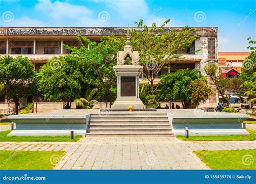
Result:
<svg viewBox="0 0 256 184">
<path fill-rule="evenodd" d="M 205 103 L 209 94 L 213 93 L 212 88 L 208 86 L 205 76 L 192 80 L 188 86 L 188 93 L 191 97 L 191 103 L 199 105 L 200 102 Z"/>
</svg>

